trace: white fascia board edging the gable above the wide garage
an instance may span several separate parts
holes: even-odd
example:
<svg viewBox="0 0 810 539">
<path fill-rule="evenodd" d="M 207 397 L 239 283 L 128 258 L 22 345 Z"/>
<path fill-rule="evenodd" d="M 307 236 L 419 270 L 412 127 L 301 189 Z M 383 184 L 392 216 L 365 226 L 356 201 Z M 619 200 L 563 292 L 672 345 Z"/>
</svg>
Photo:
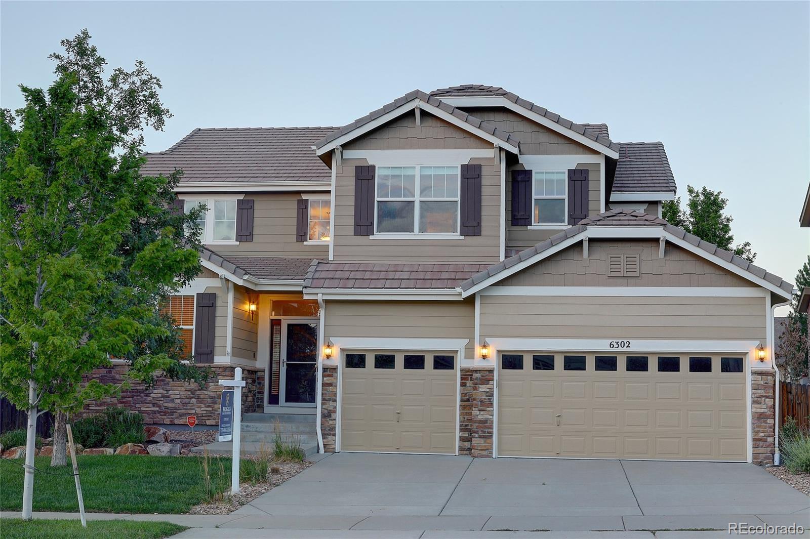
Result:
<svg viewBox="0 0 810 539">
<path fill-rule="evenodd" d="M 481 281 L 477 285 L 472 286 L 466 291 L 463 291 L 462 297 L 466 298 L 471 294 L 475 294 L 475 292 L 480 291 L 486 288 L 487 286 L 491 286 L 492 284 L 509 277 L 509 275 L 517 273 L 521 269 L 525 269 L 530 265 L 536 264 L 537 262 L 542 261 L 544 258 L 550 257 L 552 254 L 557 253 L 564 248 L 568 248 L 571 245 L 578 243 L 579 241 L 582 241 L 585 237 L 587 237 L 589 240 L 594 239 L 660 240 L 663 237 L 666 241 L 670 241 L 671 243 L 676 244 L 678 247 L 686 249 L 690 253 L 705 258 L 706 260 L 719 265 L 723 269 L 727 269 L 728 271 L 731 271 L 731 273 L 739 275 L 740 277 L 753 282 L 757 286 L 761 286 L 765 288 L 765 290 L 773 292 L 779 297 L 788 300 L 791 299 L 791 294 L 789 292 L 783 291 L 781 288 L 774 285 L 772 282 L 768 282 L 764 278 L 757 277 L 747 269 L 742 269 L 740 268 L 740 266 L 735 265 L 732 262 L 724 261 L 723 258 L 720 258 L 714 254 L 710 254 L 704 251 L 703 249 L 697 247 L 697 245 L 690 244 L 686 240 L 681 240 L 678 236 L 675 236 L 670 232 L 663 230 L 663 227 L 599 227 L 599 226 L 587 227 L 586 230 L 579 232 L 578 234 L 571 236 L 570 238 L 562 240 L 559 244 L 554 245 L 552 248 L 548 248 L 542 253 L 537 253 L 533 257 L 529 257 L 524 261 L 520 261 L 518 262 L 518 264 L 513 265 L 507 269 L 504 269 L 501 272 L 494 274 L 487 279 L 484 279 L 484 281 Z"/>
</svg>

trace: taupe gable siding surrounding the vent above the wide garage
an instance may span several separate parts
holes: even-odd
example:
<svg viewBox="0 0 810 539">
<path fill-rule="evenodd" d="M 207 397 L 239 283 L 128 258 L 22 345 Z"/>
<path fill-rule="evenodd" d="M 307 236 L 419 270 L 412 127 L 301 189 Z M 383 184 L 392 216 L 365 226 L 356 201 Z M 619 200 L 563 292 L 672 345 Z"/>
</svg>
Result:
<svg viewBox="0 0 810 539">
<path fill-rule="evenodd" d="M 608 277 L 608 254 L 641 255 L 641 276 Z M 588 258 L 582 243 L 573 245 L 511 275 L 498 286 L 757 286 L 671 243 L 659 258 L 655 240 L 590 240 Z"/>
</svg>

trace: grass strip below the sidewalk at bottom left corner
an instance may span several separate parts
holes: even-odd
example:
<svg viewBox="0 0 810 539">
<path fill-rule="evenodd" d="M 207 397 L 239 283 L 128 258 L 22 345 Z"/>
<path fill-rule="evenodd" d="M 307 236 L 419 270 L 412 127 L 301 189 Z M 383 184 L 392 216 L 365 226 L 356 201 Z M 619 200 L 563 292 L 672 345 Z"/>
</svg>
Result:
<svg viewBox="0 0 810 539">
<path fill-rule="evenodd" d="M 171 522 L 134 520 L 90 520 L 82 528 L 79 520 L 0 520 L 3 539 L 161 539 L 188 529 Z"/>
</svg>

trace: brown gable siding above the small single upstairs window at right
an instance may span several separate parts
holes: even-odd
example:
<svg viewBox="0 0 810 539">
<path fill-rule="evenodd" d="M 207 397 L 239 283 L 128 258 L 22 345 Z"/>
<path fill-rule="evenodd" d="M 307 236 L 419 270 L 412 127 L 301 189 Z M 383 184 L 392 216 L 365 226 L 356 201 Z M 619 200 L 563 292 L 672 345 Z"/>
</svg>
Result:
<svg viewBox="0 0 810 539">
<path fill-rule="evenodd" d="M 506 108 L 471 108 L 467 112 L 480 120 L 495 124 L 506 133 L 514 134 L 520 140 L 520 153 L 524 155 L 599 153 Z"/>
</svg>

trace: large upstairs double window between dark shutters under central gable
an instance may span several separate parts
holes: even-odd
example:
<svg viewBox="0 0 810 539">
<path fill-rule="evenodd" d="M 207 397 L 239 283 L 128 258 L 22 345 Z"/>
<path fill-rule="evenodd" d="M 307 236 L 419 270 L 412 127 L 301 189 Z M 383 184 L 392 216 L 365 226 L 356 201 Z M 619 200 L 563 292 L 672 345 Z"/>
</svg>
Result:
<svg viewBox="0 0 810 539">
<path fill-rule="evenodd" d="M 377 234 L 458 234 L 458 166 L 378 167 Z"/>
</svg>

